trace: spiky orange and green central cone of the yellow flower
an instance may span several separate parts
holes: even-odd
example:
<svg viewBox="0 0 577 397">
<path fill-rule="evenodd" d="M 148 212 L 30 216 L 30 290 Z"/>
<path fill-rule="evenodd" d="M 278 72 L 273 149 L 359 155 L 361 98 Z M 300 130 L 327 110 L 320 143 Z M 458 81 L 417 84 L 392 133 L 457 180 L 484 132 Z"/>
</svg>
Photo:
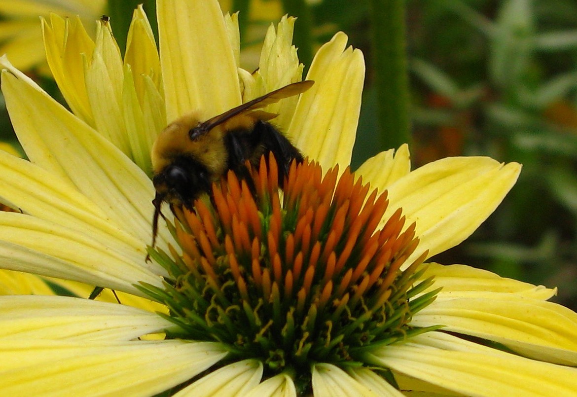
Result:
<svg viewBox="0 0 577 397">
<path fill-rule="evenodd" d="M 386 192 L 314 162 L 293 163 L 281 191 L 272 156 L 248 167 L 249 179 L 229 172 L 178 216 L 181 256 L 151 251 L 170 277 L 143 290 L 171 309 L 175 336 L 310 379 L 308 363 L 362 365 L 369 346 L 424 332 L 408 323 L 434 299 L 410 299 L 430 286 L 415 283 L 425 254 L 407 263 L 418 239 L 401 209 L 377 229 Z"/>
</svg>

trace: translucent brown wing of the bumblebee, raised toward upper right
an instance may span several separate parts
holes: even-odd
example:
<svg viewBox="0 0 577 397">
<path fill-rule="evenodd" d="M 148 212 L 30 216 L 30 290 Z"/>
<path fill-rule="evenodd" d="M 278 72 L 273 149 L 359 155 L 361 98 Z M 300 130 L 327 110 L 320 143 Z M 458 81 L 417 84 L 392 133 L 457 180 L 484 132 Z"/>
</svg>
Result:
<svg viewBox="0 0 577 397">
<path fill-rule="evenodd" d="M 282 88 L 275 89 L 275 91 L 269 92 L 266 95 L 261 96 L 260 98 L 256 98 L 253 100 L 249 100 L 249 102 L 243 103 L 231 110 L 227 110 L 223 114 L 219 114 L 207 121 L 201 123 L 201 125 L 197 126 L 193 130 L 190 131 L 190 137 L 198 137 L 202 134 L 209 132 L 215 126 L 222 124 L 223 122 L 227 121 L 228 119 L 234 117 L 237 114 L 245 113 L 251 110 L 263 108 L 271 103 L 279 102 L 279 100 L 288 98 L 290 96 L 298 95 L 299 93 L 305 92 L 308 90 L 314 81 L 312 80 L 305 80 L 299 81 L 298 83 L 288 84 Z"/>
</svg>

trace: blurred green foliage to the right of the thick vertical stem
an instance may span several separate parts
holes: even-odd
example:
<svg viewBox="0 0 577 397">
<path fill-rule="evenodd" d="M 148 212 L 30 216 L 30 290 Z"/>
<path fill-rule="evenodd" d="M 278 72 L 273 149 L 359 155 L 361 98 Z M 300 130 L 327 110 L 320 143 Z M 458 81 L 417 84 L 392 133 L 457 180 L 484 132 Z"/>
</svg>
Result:
<svg viewBox="0 0 577 397">
<path fill-rule="evenodd" d="M 413 151 L 523 164 L 470 239 L 439 259 L 559 287 L 577 306 L 577 3 L 412 1 Z"/>
</svg>

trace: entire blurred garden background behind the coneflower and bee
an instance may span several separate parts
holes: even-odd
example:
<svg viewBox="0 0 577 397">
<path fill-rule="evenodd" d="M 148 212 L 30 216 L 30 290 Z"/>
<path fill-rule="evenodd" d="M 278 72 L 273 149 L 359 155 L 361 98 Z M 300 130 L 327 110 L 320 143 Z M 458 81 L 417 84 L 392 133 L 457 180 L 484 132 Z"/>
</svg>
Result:
<svg viewBox="0 0 577 397">
<path fill-rule="evenodd" d="M 110 16 L 119 45 L 143 1 L 2 0 L 0 54 L 61 98 L 44 61 L 39 15 L 80 16 L 89 33 Z M 367 73 L 353 169 L 398 147 L 383 126 L 380 93 L 395 8 L 402 40 L 400 79 L 409 93 L 407 130 L 413 167 L 446 156 L 486 155 L 523 164 L 497 211 L 458 247 L 435 257 L 501 276 L 559 287 L 557 302 L 577 309 L 577 2 L 575 0 L 231 0 L 241 10 L 242 63 L 256 68 L 271 22 L 297 16 L 295 45 L 306 66 L 336 31 L 365 54 Z M 149 18 L 154 2 L 144 1 Z M 91 31 L 92 29 L 92 31 Z M 392 33 L 391 33 L 392 34 Z M 385 50 L 386 51 L 386 50 Z M 397 59 L 398 60 L 398 59 Z M 401 70 L 402 70 L 401 69 Z M 408 79 L 404 78 L 408 77 Z M 384 80 L 384 81 L 383 81 Z M 393 94 L 395 96 L 396 94 Z M 21 149 L 0 97 L 0 148 Z M 391 143 L 392 142 L 392 143 Z"/>
</svg>

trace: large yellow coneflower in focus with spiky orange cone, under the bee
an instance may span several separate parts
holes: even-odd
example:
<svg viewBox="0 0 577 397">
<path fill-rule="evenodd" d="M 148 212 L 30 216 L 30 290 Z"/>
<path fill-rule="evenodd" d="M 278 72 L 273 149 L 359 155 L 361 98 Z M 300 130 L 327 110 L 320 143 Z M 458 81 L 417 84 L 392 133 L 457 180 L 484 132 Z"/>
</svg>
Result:
<svg viewBox="0 0 577 397">
<path fill-rule="evenodd" d="M 421 264 L 473 233 L 514 185 L 519 164 L 482 157 L 449 158 L 410 171 L 409 152 L 403 146 L 396 153 L 388 151 L 369 159 L 357 173 L 363 181 L 355 181 L 346 167 L 357 126 L 364 63 L 358 50 L 345 48 L 343 33 L 317 53 L 307 76 L 315 81 L 313 88 L 297 103 L 288 100 L 274 110 L 283 115 L 280 126 L 295 145 L 326 172 L 323 177 L 318 166 L 308 163 L 293 171 L 291 178 L 304 180 L 300 183 L 302 189 L 308 188 L 308 196 L 302 189 L 287 187 L 288 207 L 280 211 L 275 178 L 259 177 L 260 185 L 257 181 L 255 185 L 260 186 L 260 207 L 254 207 L 252 193 L 242 192 L 238 182 L 237 189 L 231 188 L 235 177 L 228 175 L 228 184 L 220 187 L 224 193 L 231 189 L 226 194 L 233 198 L 226 202 L 241 211 L 230 212 L 226 220 L 223 201 L 215 193 L 215 205 L 222 207 L 222 214 L 203 212 L 199 204 L 200 220 L 188 215 L 190 229 L 197 233 L 192 243 L 186 242 L 189 235 L 177 227 L 182 256 L 170 248 L 176 241 L 163 227 L 159 253 L 151 252 L 156 260 L 145 261 L 146 245 L 152 239 L 155 193 L 147 175 L 148 149 L 156 133 L 167 121 L 192 109 L 211 117 L 263 91 L 301 80 L 302 70 L 288 38 L 290 18 L 284 18 L 276 32 L 269 30 L 261 70 L 252 75 L 239 69 L 235 18 L 222 17 L 218 3 L 159 0 L 157 8 L 159 55 L 141 9 L 134 13 L 132 44 L 123 58 L 107 24 L 101 23 L 97 39 L 91 42 L 73 21 L 53 16 L 50 23 L 43 23 L 49 63 L 74 113 L 2 59 L 2 90 L 30 161 L 0 151 L 2 202 L 21 209 L 0 212 L 0 267 L 153 298 L 170 304 L 170 312 L 159 315 L 80 298 L 2 296 L 0 394 L 401 395 L 397 387 L 465 395 L 574 393 L 577 376 L 570 366 L 577 365 L 577 314 L 546 302 L 554 290 L 464 265 Z M 339 164 L 338 171 L 327 171 L 335 164 Z M 312 171 L 304 173 L 307 167 Z M 260 167 L 263 173 L 267 169 Z M 342 182 L 334 188 L 338 178 Z M 367 182 L 370 186 L 363 185 Z M 387 191 L 388 204 L 370 193 L 375 188 L 379 194 Z M 315 196 L 315 189 L 324 195 Z M 335 189 L 340 192 L 334 194 L 338 202 L 331 201 Z M 241 195 L 239 200 L 234 200 L 235 194 Z M 372 198 L 364 204 L 366 195 Z M 310 207 L 305 207 L 305 201 Z M 296 218 L 290 218 L 295 205 L 306 209 L 298 215 L 305 217 L 302 226 L 281 229 L 286 226 L 283 219 L 295 222 Z M 374 210 L 365 212 L 371 206 Z M 251 313 L 260 315 L 259 308 L 243 308 L 245 318 L 252 322 L 227 323 L 242 317 L 235 316 L 238 305 L 222 304 L 230 298 L 229 289 L 249 298 L 257 290 L 243 289 L 240 280 L 250 281 L 246 258 L 240 254 L 246 253 L 246 244 L 238 251 L 235 244 L 242 246 L 245 234 L 234 231 L 246 229 L 238 220 L 243 221 L 246 209 L 254 214 L 255 208 L 257 216 L 246 222 L 250 219 L 254 230 L 262 222 L 271 237 L 255 245 L 254 256 L 260 259 L 263 253 L 263 259 L 254 264 L 260 282 L 251 285 L 270 297 L 268 301 L 263 298 L 261 306 L 272 306 L 272 314 L 256 319 Z M 208 232 L 209 221 L 222 221 L 218 233 Z M 297 239 L 298 228 L 302 235 Z M 340 230 L 347 244 L 333 242 L 331 246 L 325 236 L 319 237 L 319 248 L 303 245 L 309 241 L 304 236 L 320 236 L 323 230 Z M 290 233 L 301 244 L 302 256 L 310 259 L 318 252 L 319 261 L 334 261 L 335 270 L 328 265 L 317 268 L 314 260 L 306 263 L 304 274 L 308 272 L 310 284 L 303 279 L 302 287 L 310 288 L 300 295 L 295 290 L 293 301 L 281 301 L 281 296 L 290 296 L 287 291 L 293 284 L 287 266 L 298 264 L 299 253 L 295 250 L 287 256 L 284 251 L 289 245 L 275 246 L 275 242 L 284 241 Z M 209 249 L 220 249 L 218 238 L 224 239 L 229 254 L 228 260 L 218 264 L 236 284 L 219 285 L 215 280 L 220 282 L 220 278 L 208 277 L 211 267 L 206 263 L 211 264 L 217 254 L 223 257 L 222 252 Z M 386 246 L 389 241 L 391 245 Z M 324 247 L 328 247 L 326 252 Z M 343 247 L 350 250 L 347 257 Z M 252 246 L 249 249 L 253 254 Z M 171 256 L 161 252 L 171 252 Z M 275 252 L 279 257 L 283 253 L 280 267 L 275 255 L 270 261 L 264 256 Z M 282 259 L 287 257 L 293 260 L 283 267 Z M 337 275 L 341 258 L 342 269 L 348 272 L 350 268 L 351 280 L 357 278 L 354 282 L 345 283 Z M 237 273 L 231 265 L 235 261 L 242 265 L 235 268 Z M 200 290 L 203 295 L 194 295 L 198 290 L 190 288 L 193 278 L 173 284 L 175 269 L 196 271 L 206 280 Z M 295 286 L 297 281 L 293 278 Z M 337 282 L 344 289 L 336 289 L 339 295 L 328 301 Z M 205 293 L 218 287 L 223 287 L 222 294 L 203 301 Z M 383 290 L 373 294 L 373 287 Z M 443 289 L 438 291 L 439 287 Z M 178 301 L 180 293 L 189 294 L 188 298 Z M 319 300 L 311 301 L 312 297 Z M 371 299 L 377 300 L 369 307 L 365 302 Z M 289 309 L 276 310 L 276 302 Z M 331 310 L 322 311 L 321 305 Z M 209 308 L 208 317 L 194 317 L 194 310 L 203 306 Z M 306 312 L 306 323 L 290 325 L 291 313 L 302 314 L 304 308 L 312 310 Z M 332 308 L 342 310 L 335 313 Z M 378 319 L 366 314 L 373 310 L 378 311 Z M 319 319 L 334 315 L 349 322 L 325 322 L 315 328 L 314 313 Z M 363 314 L 355 317 L 358 313 Z M 203 321 L 211 323 L 209 329 L 199 328 Z M 223 323 L 230 332 L 238 330 L 238 340 L 220 337 Z M 248 332 L 247 324 L 260 328 Z M 343 331 L 342 324 L 351 331 Z M 386 332 L 374 331 L 380 327 Z M 328 340 L 338 328 L 340 334 Z M 364 329 L 370 332 L 364 334 Z M 299 338 L 290 336 L 291 330 Z M 160 332 L 166 332 L 167 338 L 141 339 Z M 258 338 L 247 339 L 255 334 Z M 297 345 L 283 346 L 283 338 Z M 276 344 L 271 349 L 242 349 L 253 340 L 260 346 L 267 340 Z M 309 361 L 302 355 L 305 349 L 314 353 L 310 357 L 323 357 L 323 361 Z M 263 351 L 267 355 L 260 355 Z M 293 357 L 293 351 L 299 354 Z M 284 362 L 283 357 L 287 357 Z M 296 359 L 302 360 L 299 365 Z"/>
</svg>

